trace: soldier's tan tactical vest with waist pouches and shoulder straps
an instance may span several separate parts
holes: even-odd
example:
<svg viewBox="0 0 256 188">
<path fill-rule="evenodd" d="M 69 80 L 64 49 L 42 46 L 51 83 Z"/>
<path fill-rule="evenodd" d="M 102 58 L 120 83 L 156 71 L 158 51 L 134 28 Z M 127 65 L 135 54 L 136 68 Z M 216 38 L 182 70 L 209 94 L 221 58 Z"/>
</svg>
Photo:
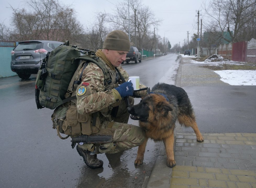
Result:
<svg viewBox="0 0 256 188">
<path fill-rule="evenodd" d="M 113 88 L 118 87 L 118 84 L 120 81 L 119 74 L 111 70 L 109 67 L 107 67 L 107 65 L 105 65 L 105 63 L 102 62 L 100 59 L 98 60 L 98 62 L 100 62 L 101 64 L 104 64 L 104 66 L 107 68 L 107 72 L 109 71 L 108 74 L 110 79 L 112 80 L 111 83 L 110 82 L 104 83 L 105 91 L 112 90 Z M 81 64 L 83 63 L 84 62 L 82 62 Z M 74 81 L 77 80 L 77 78 L 80 76 L 79 73 L 81 69 L 82 69 L 82 65 L 79 66 L 79 68 L 77 68 L 73 78 L 71 79 L 71 82 L 68 87 L 68 92 L 66 93 L 65 97 L 76 96 L 76 89 L 78 85 L 74 84 Z M 62 111 L 66 110 L 65 118 L 62 119 L 61 125 L 59 125 L 59 132 L 70 135 L 70 136 L 80 136 L 82 134 L 83 135 L 95 134 L 100 130 L 102 124 L 108 124 L 109 121 L 111 121 L 111 111 L 113 109 L 112 106 L 104 108 L 99 112 L 96 112 L 93 114 L 79 114 L 77 112 L 76 102 L 77 102 L 77 99 L 75 98 L 71 102 L 67 103 L 66 105 L 63 105 L 62 107 L 54 110 L 54 113 L 52 115 L 52 120 L 57 124 L 59 124 L 59 121 L 56 120 L 56 118 L 54 118 L 56 117 L 56 114 L 59 114 L 57 113 L 57 110 L 62 110 Z"/>
</svg>

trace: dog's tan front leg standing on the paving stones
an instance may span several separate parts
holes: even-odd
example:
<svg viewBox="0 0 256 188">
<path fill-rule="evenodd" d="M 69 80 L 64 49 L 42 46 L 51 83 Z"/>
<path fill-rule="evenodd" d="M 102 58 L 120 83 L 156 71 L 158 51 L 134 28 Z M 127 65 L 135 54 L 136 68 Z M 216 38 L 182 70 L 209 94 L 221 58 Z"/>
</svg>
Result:
<svg viewBox="0 0 256 188">
<path fill-rule="evenodd" d="M 173 151 L 174 134 L 172 133 L 170 137 L 163 139 L 163 141 L 164 141 L 165 152 L 167 156 L 167 166 L 172 168 L 176 165 L 176 162 L 174 160 L 174 151 Z"/>
</svg>

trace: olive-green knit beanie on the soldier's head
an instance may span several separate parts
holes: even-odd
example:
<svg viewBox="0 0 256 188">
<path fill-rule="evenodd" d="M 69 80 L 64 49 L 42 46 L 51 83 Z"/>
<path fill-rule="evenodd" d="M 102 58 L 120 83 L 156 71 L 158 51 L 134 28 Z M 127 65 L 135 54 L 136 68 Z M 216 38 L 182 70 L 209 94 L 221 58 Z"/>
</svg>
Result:
<svg viewBox="0 0 256 188">
<path fill-rule="evenodd" d="M 128 35 L 121 30 L 115 30 L 110 32 L 105 38 L 103 48 L 108 50 L 130 51 L 130 45 Z"/>
</svg>

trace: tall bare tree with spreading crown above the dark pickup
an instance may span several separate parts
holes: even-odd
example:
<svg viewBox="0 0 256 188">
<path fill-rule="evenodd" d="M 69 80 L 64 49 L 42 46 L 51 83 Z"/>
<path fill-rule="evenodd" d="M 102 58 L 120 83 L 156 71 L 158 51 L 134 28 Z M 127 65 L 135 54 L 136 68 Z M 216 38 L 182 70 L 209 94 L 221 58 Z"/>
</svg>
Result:
<svg viewBox="0 0 256 188">
<path fill-rule="evenodd" d="M 130 13 L 130 16 L 128 12 Z M 139 49 L 152 49 L 152 45 L 154 44 L 152 26 L 161 21 L 162 20 L 155 18 L 153 11 L 150 10 L 148 6 L 144 6 L 141 0 L 129 0 L 129 11 L 128 1 L 119 3 L 116 5 L 115 14 L 109 19 L 109 22 L 113 24 L 114 28 L 123 30 L 126 33 L 130 32 L 131 44 L 137 44 Z M 154 47 L 155 46 L 153 46 L 153 48 Z"/>
</svg>

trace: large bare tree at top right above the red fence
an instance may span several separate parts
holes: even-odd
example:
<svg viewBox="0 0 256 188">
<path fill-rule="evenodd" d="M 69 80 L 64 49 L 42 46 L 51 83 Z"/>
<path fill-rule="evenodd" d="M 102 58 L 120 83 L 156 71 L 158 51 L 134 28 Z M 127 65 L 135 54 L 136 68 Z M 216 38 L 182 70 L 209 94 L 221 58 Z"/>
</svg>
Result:
<svg viewBox="0 0 256 188">
<path fill-rule="evenodd" d="M 255 28 L 255 0 L 213 0 L 209 6 L 204 6 L 204 10 L 208 15 L 208 24 L 205 24 L 205 30 L 220 32 L 228 31 L 232 37 L 232 41 L 238 42 L 245 40 L 245 28 Z M 207 21 L 206 21 L 207 22 Z"/>
</svg>

